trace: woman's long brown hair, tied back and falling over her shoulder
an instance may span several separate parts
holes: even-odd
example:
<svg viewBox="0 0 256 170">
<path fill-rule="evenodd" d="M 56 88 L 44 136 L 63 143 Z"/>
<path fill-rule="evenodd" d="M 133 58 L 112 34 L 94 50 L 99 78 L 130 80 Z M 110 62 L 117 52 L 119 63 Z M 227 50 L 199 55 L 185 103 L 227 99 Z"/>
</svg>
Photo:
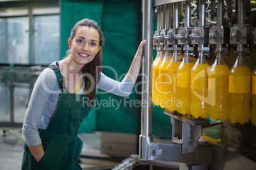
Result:
<svg viewBox="0 0 256 170">
<path fill-rule="evenodd" d="M 89 19 L 83 19 L 80 22 L 77 22 L 76 25 L 71 30 L 70 39 L 73 40 L 73 37 L 75 37 L 77 30 L 79 27 L 93 27 L 97 30 L 99 33 L 99 46 L 101 46 L 101 49 L 98 51 L 98 53 L 95 55 L 94 59 L 85 64 L 82 68 L 82 74 L 83 76 L 86 74 L 89 74 L 92 76 L 93 79 L 91 79 L 88 76 L 84 76 L 83 78 L 86 80 L 86 85 L 84 91 L 91 91 L 90 93 L 87 93 L 87 98 L 89 98 L 90 103 L 93 103 L 93 101 L 96 98 L 96 86 L 99 82 L 99 79 L 101 78 L 101 56 L 102 56 L 102 47 L 104 42 L 103 32 L 101 31 L 99 25 L 94 20 Z M 66 53 L 66 56 L 69 55 L 71 49 L 69 49 Z M 94 81 L 94 82 L 92 82 Z M 91 89 L 92 88 L 92 89 Z"/>
</svg>

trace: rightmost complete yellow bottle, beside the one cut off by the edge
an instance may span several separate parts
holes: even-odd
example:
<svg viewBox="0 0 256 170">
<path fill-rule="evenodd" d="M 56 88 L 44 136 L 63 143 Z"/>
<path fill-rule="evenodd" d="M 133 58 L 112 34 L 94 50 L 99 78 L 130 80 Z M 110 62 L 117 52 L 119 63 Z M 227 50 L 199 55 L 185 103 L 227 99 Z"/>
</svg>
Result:
<svg viewBox="0 0 256 170">
<path fill-rule="evenodd" d="M 242 51 L 229 72 L 229 120 L 245 124 L 250 119 L 252 72 L 243 60 Z"/>
</svg>

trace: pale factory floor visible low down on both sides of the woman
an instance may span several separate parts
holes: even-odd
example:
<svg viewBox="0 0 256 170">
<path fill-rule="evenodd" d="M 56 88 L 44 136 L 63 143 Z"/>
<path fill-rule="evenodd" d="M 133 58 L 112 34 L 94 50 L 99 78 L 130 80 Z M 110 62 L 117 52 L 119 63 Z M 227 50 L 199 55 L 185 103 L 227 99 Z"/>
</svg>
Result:
<svg viewBox="0 0 256 170">
<path fill-rule="evenodd" d="M 5 131 L 5 132 L 4 132 Z M 122 159 L 114 159 L 110 155 L 101 154 L 101 133 L 78 134 L 83 141 L 82 157 L 79 163 L 86 170 L 108 170 L 121 163 Z M 0 169 L 21 169 L 25 138 L 21 129 L 0 128 Z M 86 158 L 85 158 L 86 157 Z M 97 158 L 97 159 L 96 159 Z M 170 165 L 169 165 L 170 166 Z M 176 167 L 177 164 L 171 165 Z M 141 164 L 134 170 L 177 170 L 178 168 Z"/>
</svg>

